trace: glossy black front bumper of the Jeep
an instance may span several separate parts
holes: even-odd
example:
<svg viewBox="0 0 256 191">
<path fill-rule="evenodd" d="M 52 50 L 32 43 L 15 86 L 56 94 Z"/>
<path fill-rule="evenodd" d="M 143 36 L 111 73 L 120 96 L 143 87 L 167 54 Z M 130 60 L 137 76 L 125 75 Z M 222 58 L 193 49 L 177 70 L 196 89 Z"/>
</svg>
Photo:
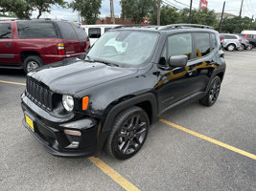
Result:
<svg viewBox="0 0 256 191">
<path fill-rule="evenodd" d="M 29 101 L 28 105 L 30 107 L 28 107 L 24 100 L 27 103 Z M 24 116 L 29 117 L 33 122 L 34 130 L 26 122 L 25 117 L 23 119 L 23 125 L 50 154 L 61 157 L 89 157 L 95 154 L 99 126 L 95 119 L 80 117 L 80 119 L 66 120 L 65 118 L 51 117 L 51 120 L 49 120 L 45 118 L 46 112 L 26 96 L 22 97 L 21 105 Z M 81 136 L 67 135 L 64 133 L 64 130 L 79 131 L 81 132 Z"/>
</svg>

